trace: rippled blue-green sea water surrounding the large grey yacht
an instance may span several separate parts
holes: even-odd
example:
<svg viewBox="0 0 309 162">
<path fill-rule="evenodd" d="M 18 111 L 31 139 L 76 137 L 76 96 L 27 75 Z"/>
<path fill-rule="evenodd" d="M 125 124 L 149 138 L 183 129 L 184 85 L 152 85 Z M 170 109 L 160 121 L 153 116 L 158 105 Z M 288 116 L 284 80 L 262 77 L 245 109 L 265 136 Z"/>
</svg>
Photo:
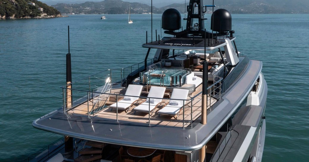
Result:
<svg viewBox="0 0 309 162">
<path fill-rule="evenodd" d="M 23 160 L 61 137 L 33 128 L 32 121 L 61 107 L 68 25 L 73 81 L 144 60 L 150 15 L 132 15 L 133 24 L 127 15 L 105 16 L 0 20 L 0 161 Z M 161 36 L 161 15 L 153 17 Z M 263 61 L 268 83 L 262 161 L 307 161 L 309 15 L 232 17 L 238 50 Z"/>
</svg>

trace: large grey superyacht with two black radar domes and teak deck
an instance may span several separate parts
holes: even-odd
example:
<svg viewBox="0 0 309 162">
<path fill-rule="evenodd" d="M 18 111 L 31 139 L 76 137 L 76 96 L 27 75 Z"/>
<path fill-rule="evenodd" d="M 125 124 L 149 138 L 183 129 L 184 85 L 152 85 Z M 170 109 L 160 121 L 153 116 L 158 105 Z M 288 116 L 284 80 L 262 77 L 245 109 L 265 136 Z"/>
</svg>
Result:
<svg viewBox="0 0 309 162">
<path fill-rule="evenodd" d="M 141 63 L 72 82 L 68 53 L 62 107 L 32 123 L 64 137 L 29 161 L 261 161 L 262 62 L 237 50 L 227 10 L 213 12 L 207 31 L 206 7 L 190 0 L 181 31 L 179 11 L 164 11 L 170 36 L 146 38 Z"/>
</svg>

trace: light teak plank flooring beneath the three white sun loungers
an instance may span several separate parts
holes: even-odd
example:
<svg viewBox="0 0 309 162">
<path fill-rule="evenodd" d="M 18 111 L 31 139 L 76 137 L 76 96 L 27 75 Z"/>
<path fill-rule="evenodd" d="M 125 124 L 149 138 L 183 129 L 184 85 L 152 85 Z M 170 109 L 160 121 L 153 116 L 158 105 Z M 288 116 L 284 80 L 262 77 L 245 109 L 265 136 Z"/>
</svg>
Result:
<svg viewBox="0 0 309 162">
<path fill-rule="evenodd" d="M 192 93 L 191 96 L 188 96 L 187 99 L 191 99 L 193 96 L 201 92 L 202 85 L 198 86 L 196 88 L 196 91 Z M 124 89 L 117 89 L 113 90 L 112 94 L 124 94 Z M 113 95 L 110 95 L 109 97 L 101 95 L 100 98 L 100 104 L 103 104 L 107 98 L 111 98 Z M 122 97 L 118 97 L 118 101 Z M 192 121 L 196 120 L 199 116 L 201 116 L 201 105 L 202 105 L 202 100 L 201 100 L 201 95 L 197 96 L 194 98 L 192 102 Z M 112 104 L 115 103 L 115 97 L 113 97 L 114 101 L 107 101 L 107 104 Z M 95 101 L 97 98 L 94 99 Z M 109 99 L 111 100 L 111 99 Z M 143 99 L 146 100 L 146 99 Z M 162 100 L 164 102 L 169 102 L 169 100 L 165 99 Z M 211 98 L 211 105 L 213 105 L 216 102 L 215 99 Z M 134 104 L 131 108 L 129 108 L 128 112 L 125 113 L 124 110 L 118 109 L 118 120 L 122 121 L 134 121 L 134 122 L 139 122 L 139 123 L 144 123 L 148 124 L 149 122 L 149 115 L 146 112 L 135 112 L 134 114 L 134 108 L 138 106 L 139 103 Z M 93 100 L 89 101 L 89 111 L 91 111 L 93 105 Z M 208 108 L 210 108 L 210 100 L 208 99 Z M 155 112 L 153 113 L 152 116 L 150 116 L 150 124 L 151 125 L 163 125 L 163 126 L 176 126 L 176 127 L 182 127 L 183 126 L 183 112 L 184 112 L 184 127 L 188 126 L 191 124 L 191 101 L 187 101 L 187 103 L 184 106 L 184 111 L 183 109 L 180 109 L 180 112 L 178 114 L 177 119 L 174 118 L 174 116 L 170 115 L 159 115 L 157 111 L 161 109 L 162 106 L 158 106 L 158 108 L 155 109 Z M 69 113 L 78 113 L 78 114 L 88 114 L 88 104 L 85 102 L 84 104 L 81 104 L 77 106 L 76 108 L 72 109 L 69 111 Z M 150 113 L 151 114 L 151 113 Z M 109 108 L 106 107 L 99 111 L 98 113 L 95 113 L 95 116 L 97 117 L 103 117 L 103 118 L 109 118 L 109 119 L 115 119 L 116 120 L 116 109 L 114 108 Z"/>
</svg>

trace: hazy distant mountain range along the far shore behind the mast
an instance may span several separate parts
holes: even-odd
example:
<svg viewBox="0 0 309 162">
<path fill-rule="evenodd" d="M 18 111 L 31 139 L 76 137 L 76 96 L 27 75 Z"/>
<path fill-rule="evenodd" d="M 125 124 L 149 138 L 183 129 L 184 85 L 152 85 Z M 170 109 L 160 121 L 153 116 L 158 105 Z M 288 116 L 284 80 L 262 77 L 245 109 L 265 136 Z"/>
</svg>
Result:
<svg viewBox="0 0 309 162">
<path fill-rule="evenodd" d="M 188 1 L 189 0 L 187 0 L 187 2 Z M 216 7 L 214 10 L 225 8 L 232 14 L 309 13 L 308 0 L 220 0 L 215 2 L 215 5 Z M 131 7 L 130 12 L 132 14 L 151 12 L 151 7 L 147 4 L 139 2 L 124 2 L 121 0 L 104 0 L 102 2 L 84 2 L 80 4 L 58 3 L 53 5 L 58 11 L 66 14 L 128 14 L 129 6 Z M 180 13 L 184 13 L 185 6 L 184 3 L 173 3 L 160 8 L 153 7 L 152 11 L 155 14 L 162 14 L 167 8 L 175 8 Z M 207 8 L 207 13 L 212 13 L 211 7 Z"/>
</svg>

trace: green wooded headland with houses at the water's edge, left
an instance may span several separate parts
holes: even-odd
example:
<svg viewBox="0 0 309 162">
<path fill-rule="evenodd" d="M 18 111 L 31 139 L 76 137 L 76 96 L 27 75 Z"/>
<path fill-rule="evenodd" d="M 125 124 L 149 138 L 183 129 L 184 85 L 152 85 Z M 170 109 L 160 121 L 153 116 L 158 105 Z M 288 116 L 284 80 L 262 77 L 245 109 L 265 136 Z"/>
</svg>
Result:
<svg viewBox="0 0 309 162">
<path fill-rule="evenodd" d="M 1 0 L 1 2 L 0 19 L 49 18 L 61 16 L 57 9 L 37 0 Z"/>
</svg>

